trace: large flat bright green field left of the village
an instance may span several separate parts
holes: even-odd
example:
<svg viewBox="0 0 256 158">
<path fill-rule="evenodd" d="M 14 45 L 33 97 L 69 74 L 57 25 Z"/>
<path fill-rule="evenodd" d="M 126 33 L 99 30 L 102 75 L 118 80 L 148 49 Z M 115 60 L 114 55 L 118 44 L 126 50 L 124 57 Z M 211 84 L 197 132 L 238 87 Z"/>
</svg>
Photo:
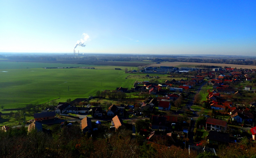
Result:
<svg viewBox="0 0 256 158">
<path fill-rule="evenodd" d="M 0 68 L 3 68 L 3 63 L 6 62 L 0 62 Z M 51 63 L 24 63 L 25 67 L 27 64 L 33 64 L 31 67 L 43 67 L 41 64 L 46 64 L 44 67 L 56 67 Z M 46 103 L 48 99 L 58 99 L 59 95 L 61 99 L 58 101 L 89 97 L 98 90 L 131 88 L 135 81 L 125 79 L 129 74 L 113 70 L 112 66 L 98 66 L 102 69 L 13 69 L 19 65 L 8 67 L 9 69 L 0 70 L 8 71 L 0 72 L 0 100 L 4 109 L 24 107 L 28 103 Z"/>
</svg>

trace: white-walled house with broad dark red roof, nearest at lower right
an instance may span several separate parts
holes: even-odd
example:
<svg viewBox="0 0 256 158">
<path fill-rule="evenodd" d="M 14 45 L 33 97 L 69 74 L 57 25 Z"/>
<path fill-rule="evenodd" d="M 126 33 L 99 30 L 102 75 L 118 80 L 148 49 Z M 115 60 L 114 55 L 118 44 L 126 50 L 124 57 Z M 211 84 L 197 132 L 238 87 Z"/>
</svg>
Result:
<svg viewBox="0 0 256 158">
<path fill-rule="evenodd" d="M 227 122 L 214 119 L 214 118 L 207 118 L 206 120 L 206 130 L 213 130 L 213 131 L 226 131 L 227 130 Z"/>
</svg>

